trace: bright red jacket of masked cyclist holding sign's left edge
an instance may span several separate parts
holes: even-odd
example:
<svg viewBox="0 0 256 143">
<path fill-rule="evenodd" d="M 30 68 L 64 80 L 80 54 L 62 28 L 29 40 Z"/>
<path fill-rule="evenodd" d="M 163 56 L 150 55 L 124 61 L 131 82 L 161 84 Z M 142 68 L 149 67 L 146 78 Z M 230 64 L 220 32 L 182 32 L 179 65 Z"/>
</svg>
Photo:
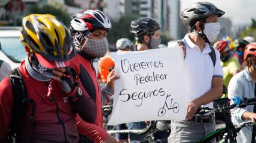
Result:
<svg viewBox="0 0 256 143">
<path fill-rule="evenodd" d="M 96 72 L 92 65 L 92 58 L 84 53 L 79 53 L 71 60 L 71 65 L 79 73 L 83 94 L 90 96 L 96 104 L 96 120 L 94 124 L 82 121 L 77 116 L 77 130 L 90 140 L 86 142 L 103 142 L 108 136 L 108 132 L 103 129 L 103 115 L 101 108 L 101 88 L 96 79 Z"/>
</svg>

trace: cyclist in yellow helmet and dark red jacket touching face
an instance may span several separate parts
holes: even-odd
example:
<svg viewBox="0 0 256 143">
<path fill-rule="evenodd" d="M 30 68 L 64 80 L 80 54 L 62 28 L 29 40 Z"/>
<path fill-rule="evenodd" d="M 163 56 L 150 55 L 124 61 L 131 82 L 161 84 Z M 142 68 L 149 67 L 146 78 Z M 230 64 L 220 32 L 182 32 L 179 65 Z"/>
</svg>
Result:
<svg viewBox="0 0 256 143">
<path fill-rule="evenodd" d="M 27 112 L 17 116 L 20 126 L 12 128 L 12 113 L 19 112 L 14 105 L 14 96 L 17 97 L 14 88 L 19 85 L 12 87 L 9 77 L 1 81 L 0 142 L 7 142 L 12 128 L 15 142 L 78 143 L 75 111 L 89 122 L 96 115 L 94 102 L 82 95 L 77 75 L 69 67 L 69 60 L 76 54 L 69 31 L 53 15 L 31 14 L 23 18 L 21 33 L 20 41 L 25 45 L 27 57 L 15 70 L 20 73 L 30 102 Z"/>
</svg>

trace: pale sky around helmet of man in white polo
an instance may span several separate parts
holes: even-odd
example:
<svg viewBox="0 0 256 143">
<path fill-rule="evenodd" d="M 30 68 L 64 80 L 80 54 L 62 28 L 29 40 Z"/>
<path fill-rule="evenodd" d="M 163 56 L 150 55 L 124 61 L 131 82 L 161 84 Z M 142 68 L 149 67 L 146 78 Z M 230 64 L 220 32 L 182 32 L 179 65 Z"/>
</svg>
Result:
<svg viewBox="0 0 256 143">
<path fill-rule="evenodd" d="M 181 0 L 181 11 L 201 0 Z M 206 0 L 205 0 L 206 1 Z M 233 25 L 250 24 L 256 20 L 256 0 L 207 0 L 223 10 L 223 17 L 230 18 Z"/>
</svg>

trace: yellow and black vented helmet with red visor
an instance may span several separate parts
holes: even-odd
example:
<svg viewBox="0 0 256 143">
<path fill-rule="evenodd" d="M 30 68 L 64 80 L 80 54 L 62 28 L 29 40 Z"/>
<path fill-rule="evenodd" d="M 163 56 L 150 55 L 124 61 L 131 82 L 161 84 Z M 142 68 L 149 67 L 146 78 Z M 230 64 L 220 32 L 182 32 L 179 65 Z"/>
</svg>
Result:
<svg viewBox="0 0 256 143">
<path fill-rule="evenodd" d="M 23 18 L 20 41 L 46 60 L 64 62 L 76 54 L 67 27 L 49 14 L 30 14 Z"/>
</svg>

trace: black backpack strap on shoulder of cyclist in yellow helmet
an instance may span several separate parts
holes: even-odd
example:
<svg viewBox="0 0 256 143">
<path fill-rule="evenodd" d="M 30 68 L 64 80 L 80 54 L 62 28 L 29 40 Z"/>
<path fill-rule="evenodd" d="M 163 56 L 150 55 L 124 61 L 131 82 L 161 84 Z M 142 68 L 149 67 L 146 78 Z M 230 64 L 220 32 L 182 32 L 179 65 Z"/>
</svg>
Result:
<svg viewBox="0 0 256 143">
<path fill-rule="evenodd" d="M 13 142 L 16 138 L 15 133 L 19 131 L 22 121 L 25 119 L 25 115 L 28 110 L 28 105 L 32 104 L 32 113 L 30 114 L 30 122 L 33 124 L 33 133 L 35 131 L 35 102 L 27 97 L 27 89 L 25 88 L 25 83 L 22 80 L 19 68 L 15 68 L 11 71 L 9 75 L 9 80 L 12 85 L 12 96 L 14 100 L 12 109 L 12 121 L 8 134 L 8 142 Z"/>
</svg>

